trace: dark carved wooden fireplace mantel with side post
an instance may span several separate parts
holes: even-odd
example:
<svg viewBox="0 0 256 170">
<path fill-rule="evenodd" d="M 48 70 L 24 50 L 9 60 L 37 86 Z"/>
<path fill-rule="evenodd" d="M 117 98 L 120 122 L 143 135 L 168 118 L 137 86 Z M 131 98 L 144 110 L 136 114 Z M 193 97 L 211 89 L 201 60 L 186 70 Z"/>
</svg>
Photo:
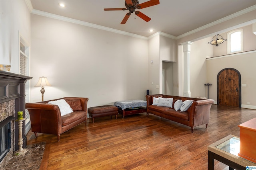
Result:
<svg viewBox="0 0 256 170">
<path fill-rule="evenodd" d="M 18 111 L 25 113 L 25 83 L 32 77 L 0 71 L 0 104 L 15 100 L 15 119 L 18 119 Z M 23 115 L 25 116 L 25 115 Z M 18 123 L 15 123 L 15 150 L 18 146 Z M 26 147 L 25 127 L 23 126 L 23 147 Z"/>
</svg>

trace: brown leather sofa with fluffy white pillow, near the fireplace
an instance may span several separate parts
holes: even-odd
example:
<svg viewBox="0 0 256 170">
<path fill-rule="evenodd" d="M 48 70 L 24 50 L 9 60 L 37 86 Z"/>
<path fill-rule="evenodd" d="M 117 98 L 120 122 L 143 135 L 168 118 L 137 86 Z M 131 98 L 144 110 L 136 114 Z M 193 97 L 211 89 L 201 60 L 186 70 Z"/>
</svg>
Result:
<svg viewBox="0 0 256 170">
<path fill-rule="evenodd" d="M 72 113 L 61 116 L 57 105 L 48 104 L 49 101 L 38 103 L 26 103 L 26 109 L 30 114 L 31 131 L 35 133 L 47 133 L 57 135 L 60 141 L 60 134 L 87 121 L 88 98 L 65 97 L 62 98 L 74 110 Z M 60 100 L 60 99 L 55 99 Z"/>
</svg>

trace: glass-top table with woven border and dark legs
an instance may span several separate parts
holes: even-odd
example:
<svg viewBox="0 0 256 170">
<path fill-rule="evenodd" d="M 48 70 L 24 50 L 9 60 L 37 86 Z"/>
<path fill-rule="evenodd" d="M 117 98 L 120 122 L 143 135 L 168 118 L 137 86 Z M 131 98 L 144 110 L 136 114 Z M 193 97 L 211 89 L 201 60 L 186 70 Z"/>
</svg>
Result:
<svg viewBox="0 0 256 170">
<path fill-rule="evenodd" d="M 214 159 L 228 165 L 230 170 L 245 170 L 246 166 L 256 166 L 256 163 L 238 156 L 240 138 L 228 135 L 208 146 L 208 170 L 214 170 Z"/>
</svg>

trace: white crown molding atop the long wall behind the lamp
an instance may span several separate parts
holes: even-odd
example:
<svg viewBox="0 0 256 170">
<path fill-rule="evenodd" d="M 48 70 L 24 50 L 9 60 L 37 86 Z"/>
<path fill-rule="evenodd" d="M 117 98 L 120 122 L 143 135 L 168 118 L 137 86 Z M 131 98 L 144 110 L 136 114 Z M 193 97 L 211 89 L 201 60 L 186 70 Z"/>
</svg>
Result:
<svg viewBox="0 0 256 170">
<path fill-rule="evenodd" d="M 118 29 L 113 29 L 113 28 L 109 28 L 109 27 L 104 27 L 104 26 L 101 26 L 101 25 L 96 25 L 94 23 L 89 23 L 89 22 L 85 22 L 85 21 L 80 21 L 80 20 L 74 20 L 72 18 L 68 18 L 68 17 L 64 17 L 64 16 L 59 16 L 59 15 L 56 15 L 56 14 L 51 14 L 51 13 L 48 13 L 48 12 L 43 12 L 43 11 L 40 11 L 40 10 L 32 10 L 31 14 L 36 14 L 36 15 L 40 15 L 40 16 L 45 16 L 45 17 L 48 17 L 48 18 L 53 18 L 53 19 L 56 19 L 56 20 L 62 20 L 62 21 L 66 21 L 66 22 L 71 22 L 71 23 L 76 23 L 76 24 L 79 24 L 79 25 L 84 25 L 84 26 L 87 26 L 87 27 L 92 27 L 92 28 L 97 28 L 97 29 L 102 29 L 102 30 L 105 30 L 105 31 L 110 31 L 110 32 L 114 32 L 114 33 L 119 33 L 119 34 L 122 34 L 122 35 L 127 35 L 127 36 L 130 36 L 130 37 L 135 37 L 135 38 L 140 38 L 140 39 L 148 39 L 148 37 L 145 37 L 145 36 L 142 36 L 142 35 L 137 35 L 137 34 L 133 34 L 133 33 L 128 33 L 126 31 L 120 31 Z"/>
</svg>

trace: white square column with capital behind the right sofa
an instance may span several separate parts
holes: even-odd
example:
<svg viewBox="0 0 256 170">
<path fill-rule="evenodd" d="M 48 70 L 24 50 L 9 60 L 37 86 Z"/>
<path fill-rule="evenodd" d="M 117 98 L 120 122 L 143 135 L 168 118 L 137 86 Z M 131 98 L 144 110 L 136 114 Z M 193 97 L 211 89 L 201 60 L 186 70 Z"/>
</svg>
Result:
<svg viewBox="0 0 256 170">
<path fill-rule="evenodd" d="M 190 46 L 192 42 L 187 41 L 182 43 L 183 45 L 183 53 L 184 53 L 184 97 L 191 97 L 190 92 Z"/>
</svg>

